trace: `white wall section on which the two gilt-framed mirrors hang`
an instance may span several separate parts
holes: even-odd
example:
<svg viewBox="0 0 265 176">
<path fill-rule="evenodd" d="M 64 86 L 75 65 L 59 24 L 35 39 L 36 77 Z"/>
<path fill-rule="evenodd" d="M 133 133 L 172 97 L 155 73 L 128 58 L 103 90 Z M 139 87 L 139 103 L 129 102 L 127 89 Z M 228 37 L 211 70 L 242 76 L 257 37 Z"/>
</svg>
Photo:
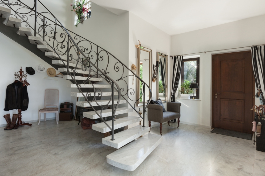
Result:
<svg viewBox="0 0 265 176">
<path fill-rule="evenodd" d="M 157 27 L 151 25 L 150 23 L 143 20 L 142 18 L 136 16 L 132 12 L 129 12 L 129 64 L 128 64 L 129 68 L 131 67 L 132 64 L 135 64 L 135 65 L 137 64 L 136 57 L 135 57 L 135 45 L 139 45 L 138 40 L 140 40 L 141 45 L 143 47 L 146 47 L 152 50 L 152 66 L 153 64 L 156 64 L 156 52 L 160 52 L 166 55 L 170 54 L 171 37 L 165 32 L 158 29 Z M 170 65 L 169 65 L 169 68 L 170 68 Z M 168 74 L 170 73 L 172 72 L 169 71 Z M 131 75 L 131 73 L 129 73 L 129 75 Z M 152 75 L 150 75 L 150 77 Z M 168 88 L 171 87 L 171 82 L 169 80 L 170 79 L 168 79 Z M 152 86 L 151 87 L 152 100 L 155 100 L 156 99 L 156 82 L 155 83 L 152 82 L 151 86 Z M 135 90 L 135 95 L 136 95 L 136 82 L 134 83 L 134 85 L 132 85 L 132 77 L 129 78 L 129 88 L 133 88 Z M 134 104 L 134 102 L 132 102 L 131 104 Z M 142 110 L 143 106 L 139 106 L 135 108 L 137 110 L 139 110 L 139 108 Z M 138 116 L 136 112 L 131 112 L 129 113 L 129 115 Z M 145 126 L 148 126 L 147 116 L 145 117 L 146 117 Z M 156 125 L 155 122 L 152 122 L 151 124 L 152 126 Z"/>
</svg>

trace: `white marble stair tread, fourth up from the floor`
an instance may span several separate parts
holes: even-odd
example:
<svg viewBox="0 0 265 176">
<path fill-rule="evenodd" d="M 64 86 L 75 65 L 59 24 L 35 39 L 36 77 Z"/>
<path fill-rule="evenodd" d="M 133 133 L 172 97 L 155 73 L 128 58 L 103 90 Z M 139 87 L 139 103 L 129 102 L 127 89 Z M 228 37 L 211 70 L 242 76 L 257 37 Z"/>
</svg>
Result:
<svg viewBox="0 0 265 176">
<path fill-rule="evenodd" d="M 119 107 L 116 109 L 115 115 L 125 114 L 128 112 L 133 112 L 133 109 L 128 108 L 128 107 Z M 97 111 L 97 113 L 100 114 L 101 110 Z M 104 110 L 102 110 L 101 116 L 102 117 L 109 117 L 109 116 L 111 116 L 111 113 L 112 113 L 111 109 L 104 109 Z M 99 118 L 99 116 L 96 114 L 95 111 L 83 112 L 83 117 L 87 117 L 89 119 L 98 119 Z"/>
</svg>

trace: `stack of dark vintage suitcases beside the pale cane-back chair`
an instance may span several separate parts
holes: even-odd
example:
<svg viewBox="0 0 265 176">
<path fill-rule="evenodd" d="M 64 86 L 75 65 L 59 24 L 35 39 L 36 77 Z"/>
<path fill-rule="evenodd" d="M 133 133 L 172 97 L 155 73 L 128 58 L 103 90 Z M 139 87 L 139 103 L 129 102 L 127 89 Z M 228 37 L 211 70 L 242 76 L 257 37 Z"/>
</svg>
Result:
<svg viewBox="0 0 265 176">
<path fill-rule="evenodd" d="M 60 105 L 59 121 L 71 121 L 73 118 L 74 103 L 64 102 Z"/>
</svg>

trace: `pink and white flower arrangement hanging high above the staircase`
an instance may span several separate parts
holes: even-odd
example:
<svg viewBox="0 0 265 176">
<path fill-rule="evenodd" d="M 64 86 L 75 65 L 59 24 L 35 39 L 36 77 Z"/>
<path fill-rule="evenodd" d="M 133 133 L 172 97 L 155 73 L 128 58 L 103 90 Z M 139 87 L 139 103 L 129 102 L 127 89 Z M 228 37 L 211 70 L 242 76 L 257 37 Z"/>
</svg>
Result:
<svg viewBox="0 0 265 176">
<path fill-rule="evenodd" d="M 77 26 L 78 23 L 83 23 L 83 21 L 85 20 L 85 15 L 86 13 L 88 13 L 88 9 L 85 7 L 85 3 L 86 0 L 74 0 L 74 2 L 70 4 L 70 6 L 73 7 L 73 10 L 71 11 L 74 11 L 78 18 L 75 26 Z"/>
</svg>

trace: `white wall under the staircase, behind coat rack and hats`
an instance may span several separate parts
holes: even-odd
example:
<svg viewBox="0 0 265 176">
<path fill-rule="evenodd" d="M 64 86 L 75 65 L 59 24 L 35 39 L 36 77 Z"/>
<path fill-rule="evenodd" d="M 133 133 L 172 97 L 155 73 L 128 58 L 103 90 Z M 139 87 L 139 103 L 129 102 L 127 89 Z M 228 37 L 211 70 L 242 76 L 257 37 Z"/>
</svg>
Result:
<svg viewBox="0 0 265 176">
<path fill-rule="evenodd" d="M 48 76 L 47 73 L 39 73 L 36 71 L 36 65 L 38 64 L 45 65 L 47 69 L 51 68 L 51 65 L 47 64 L 31 51 L 25 49 L 23 46 L 17 44 L 15 41 L 11 40 L 2 33 L 0 33 L 0 41 L 0 69 L 2 71 L 2 86 L 0 88 L 0 99 L 2 100 L 0 102 L 1 117 L 8 113 L 10 113 L 11 117 L 12 114 L 17 114 L 17 110 L 6 112 L 3 109 L 5 106 L 7 85 L 14 82 L 14 72 L 17 73 L 20 67 L 22 67 L 22 71 L 24 71 L 24 73 L 26 73 L 26 67 L 32 67 L 35 70 L 34 75 L 28 75 L 27 77 L 27 81 L 30 83 L 30 86 L 27 87 L 29 106 L 27 111 L 22 111 L 22 121 L 36 121 L 38 119 L 38 111 L 44 107 L 45 89 L 59 89 L 59 103 L 76 101 L 76 98 L 72 99 L 70 96 L 71 88 L 66 88 L 67 83 L 70 83 L 70 81 L 62 78 L 56 78 L 58 81 L 43 79 Z M 55 117 L 55 114 L 49 113 L 46 117 L 52 118 Z M 6 124 L 6 121 L 1 118 L 0 126 L 4 126 L 4 124 Z"/>
</svg>

